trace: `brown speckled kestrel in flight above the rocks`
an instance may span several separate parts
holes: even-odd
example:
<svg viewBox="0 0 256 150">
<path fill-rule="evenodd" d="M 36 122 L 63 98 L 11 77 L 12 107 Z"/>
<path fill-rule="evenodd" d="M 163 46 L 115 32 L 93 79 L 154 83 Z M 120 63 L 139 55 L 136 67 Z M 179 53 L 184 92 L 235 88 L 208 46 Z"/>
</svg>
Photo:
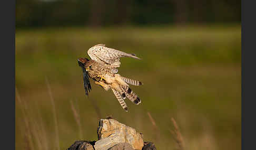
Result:
<svg viewBox="0 0 256 150">
<path fill-rule="evenodd" d="M 104 44 L 91 47 L 87 53 L 91 60 L 87 58 L 78 59 L 78 65 L 82 68 L 84 74 L 86 95 L 92 89 L 89 80 L 91 78 L 95 81 L 95 84 L 99 84 L 106 91 L 111 89 L 125 111 L 127 111 L 127 105 L 124 102 L 126 97 L 135 104 L 141 103 L 140 98 L 131 90 L 129 84 L 139 86 L 142 85 L 142 82 L 117 74 L 117 68 L 121 65 L 121 57 L 140 58 L 131 53 L 105 47 Z"/>
</svg>

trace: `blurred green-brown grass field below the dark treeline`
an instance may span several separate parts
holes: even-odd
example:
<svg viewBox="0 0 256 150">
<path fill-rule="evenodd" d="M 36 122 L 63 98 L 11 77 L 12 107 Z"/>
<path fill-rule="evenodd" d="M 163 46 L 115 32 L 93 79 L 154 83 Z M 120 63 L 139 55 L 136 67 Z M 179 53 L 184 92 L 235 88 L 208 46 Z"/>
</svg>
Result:
<svg viewBox="0 0 256 150">
<path fill-rule="evenodd" d="M 129 112 L 122 110 L 112 91 L 94 83 L 85 96 L 77 58 L 88 58 L 87 50 L 100 43 L 142 58 L 121 59 L 119 73 L 144 83 L 131 86 L 142 103 L 126 101 Z M 66 149 L 80 137 L 97 140 L 99 114 L 93 104 L 100 117 L 112 116 L 134 127 L 157 149 L 177 147 L 171 117 L 187 149 L 240 149 L 240 61 L 240 25 L 17 30 L 15 80 L 21 103 L 16 99 L 16 149 L 56 149 L 56 142 Z"/>
</svg>

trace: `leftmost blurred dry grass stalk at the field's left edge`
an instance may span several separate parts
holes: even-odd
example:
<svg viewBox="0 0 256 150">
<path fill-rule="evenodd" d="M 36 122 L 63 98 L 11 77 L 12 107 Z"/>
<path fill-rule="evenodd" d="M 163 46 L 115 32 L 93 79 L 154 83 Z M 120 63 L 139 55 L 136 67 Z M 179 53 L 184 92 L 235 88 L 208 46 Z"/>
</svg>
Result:
<svg viewBox="0 0 256 150">
<path fill-rule="evenodd" d="M 30 127 L 29 127 L 29 122 L 28 122 L 28 117 L 27 117 L 27 106 L 26 106 L 26 103 L 22 101 L 19 93 L 18 93 L 18 90 L 17 90 L 17 87 L 16 87 L 16 96 L 17 96 L 17 100 L 19 102 L 19 104 L 21 106 L 24 106 L 23 109 L 22 109 L 22 114 L 23 114 L 23 117 L 24 117 L 24 122 L 25 122 L 25 143 L 26 143 L 26 147 L 25 149 L 34 149 L 34 144 L 33 144 L 33 140 L 32 140 L 32 134 L 31 134 L 31 131 L 30 131 Z"/>
</svg>

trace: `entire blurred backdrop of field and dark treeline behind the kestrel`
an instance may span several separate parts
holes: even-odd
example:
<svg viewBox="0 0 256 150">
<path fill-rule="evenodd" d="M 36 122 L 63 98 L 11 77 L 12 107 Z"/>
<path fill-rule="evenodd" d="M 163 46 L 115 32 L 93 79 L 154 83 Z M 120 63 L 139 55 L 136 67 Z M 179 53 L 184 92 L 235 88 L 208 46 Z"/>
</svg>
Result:
<svg viewBox="0 0 256 150">
<path fill-rule="evenodd" d="M 240 149 L 240 24 L 237 0 L 16 1 L 16 149 L 97 140 L 107 116 L 157 149 L 179 148 L 172 117 L 187 149 Z M 85 96 L 77 58 L 96 44 L 142 58 L 121 58 L 144 83 L 129 112 L 94 83 Z"/>
</svg>

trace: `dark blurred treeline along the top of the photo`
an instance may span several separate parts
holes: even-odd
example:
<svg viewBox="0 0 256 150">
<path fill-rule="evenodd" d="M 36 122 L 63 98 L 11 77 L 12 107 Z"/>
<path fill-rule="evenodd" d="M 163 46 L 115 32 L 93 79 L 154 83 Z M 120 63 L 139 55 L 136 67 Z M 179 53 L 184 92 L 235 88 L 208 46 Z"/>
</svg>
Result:
<svg viewBox="0 0 256 150">
<path fill-rule="evenodd" d="M 19 0 L 16 28 L 239 23 L 239 0 Z"/>
</svg>

